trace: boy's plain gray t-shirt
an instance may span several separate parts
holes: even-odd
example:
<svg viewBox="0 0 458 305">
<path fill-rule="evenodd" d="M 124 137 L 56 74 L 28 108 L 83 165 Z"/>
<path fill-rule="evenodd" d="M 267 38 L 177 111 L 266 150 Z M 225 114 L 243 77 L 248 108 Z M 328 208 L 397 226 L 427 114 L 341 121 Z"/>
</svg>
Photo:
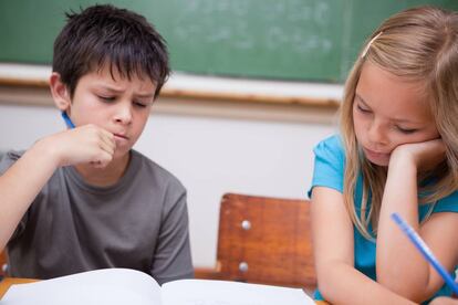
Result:
<svg viewBox="0 0 458 305">
<path fill-rule="evenodd" d="M 7 154 L 0 173 L 22 154 Z M 135 150 L 111 187 L 90 186 L 73 167 L 59 168 L 19 223 L 8 255 L 9 273 L 19 277 L 104 267 L 139 270 L 160 284 L 192 277 L 186 190 Z"/>
</svg>

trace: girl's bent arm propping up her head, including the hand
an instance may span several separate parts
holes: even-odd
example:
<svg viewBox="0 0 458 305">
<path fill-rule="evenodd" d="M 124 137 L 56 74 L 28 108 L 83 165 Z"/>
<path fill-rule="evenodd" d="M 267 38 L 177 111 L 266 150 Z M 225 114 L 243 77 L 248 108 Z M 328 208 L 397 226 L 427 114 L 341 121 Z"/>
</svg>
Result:
<svg viewBox="0 0 458 305">
<path fill-rule="evenodd" d="M 458 259 L 458 213 L 435 213 L 421 227 L 418 222 L 417 173 L 433 168 L 443 159 L 441 140 L 397 147 L 389 160 L 382 200 L 377 281 L 416 302 L 431 297 L 444 281 L 396 227 L 391 214 L 399 213 L 421 235 L 444 266 L 450 272 L 454 270 Z"/>
</svg>

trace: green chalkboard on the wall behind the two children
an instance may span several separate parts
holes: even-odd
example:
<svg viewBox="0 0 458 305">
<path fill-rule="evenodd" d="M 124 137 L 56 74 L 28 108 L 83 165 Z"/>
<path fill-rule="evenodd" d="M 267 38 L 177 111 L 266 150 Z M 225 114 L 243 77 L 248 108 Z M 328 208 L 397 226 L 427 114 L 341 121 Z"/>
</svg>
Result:
<svg viewBox="0 0 458 305">
<path fill-rule="evenodd" d="M 364 39 L 388 15 L 457 0 L 1 0 L 0 62 L 49 64 L 63 12 L 111 2 L 144 14 L 175 71 L 342 82 Z"/>
</svg>

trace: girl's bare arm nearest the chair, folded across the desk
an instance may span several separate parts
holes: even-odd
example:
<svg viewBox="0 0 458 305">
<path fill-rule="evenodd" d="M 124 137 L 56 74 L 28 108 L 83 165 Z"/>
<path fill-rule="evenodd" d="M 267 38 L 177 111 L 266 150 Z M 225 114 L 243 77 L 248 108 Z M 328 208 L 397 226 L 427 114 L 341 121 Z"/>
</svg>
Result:
<svg viewBox="0 0 458 305">
<path fill-rule="evenodd" d="M 318 285 L 335 304 L 414 304 L 354 269 L 353 224 L 336 190 L 315 187 L 312 236 Z"/>
</svg>

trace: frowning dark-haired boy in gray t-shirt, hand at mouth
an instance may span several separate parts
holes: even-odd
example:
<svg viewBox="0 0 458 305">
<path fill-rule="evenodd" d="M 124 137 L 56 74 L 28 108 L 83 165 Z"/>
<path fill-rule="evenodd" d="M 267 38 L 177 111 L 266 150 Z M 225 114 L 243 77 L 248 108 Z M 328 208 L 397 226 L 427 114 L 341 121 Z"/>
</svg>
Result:
<svg viewBox="0 0 458 305">
<path fill-rule="evenodd" d="M 129 267 L 159 283 L 192 276 L 186 190 L 132 149 L 168 74 L 165 42 L 145 18 L 112 6 L 67 14 L 50 87 L 75 128 L 0 162 L 10 275 Z"/>
</svg>

